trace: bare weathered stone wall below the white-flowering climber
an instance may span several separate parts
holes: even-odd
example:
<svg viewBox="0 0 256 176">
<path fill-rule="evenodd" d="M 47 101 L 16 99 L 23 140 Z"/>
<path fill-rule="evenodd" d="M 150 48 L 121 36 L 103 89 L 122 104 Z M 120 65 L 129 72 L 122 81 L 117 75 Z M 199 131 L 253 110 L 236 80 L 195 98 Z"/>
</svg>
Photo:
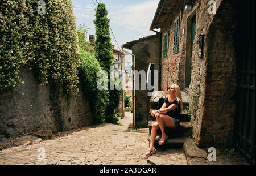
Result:
<svg viewBox="0 0 256 176">
<path fill-rule="evenodd" d="M 39 85 L 32 71 L 20 68 L 25 83 L 0 93 L 0 135 L 27 135 L 40 128 L 53 132 L 71 130 L 93 123 L 82 92 L 68 97 L 55 83 Z"/>
</svg>

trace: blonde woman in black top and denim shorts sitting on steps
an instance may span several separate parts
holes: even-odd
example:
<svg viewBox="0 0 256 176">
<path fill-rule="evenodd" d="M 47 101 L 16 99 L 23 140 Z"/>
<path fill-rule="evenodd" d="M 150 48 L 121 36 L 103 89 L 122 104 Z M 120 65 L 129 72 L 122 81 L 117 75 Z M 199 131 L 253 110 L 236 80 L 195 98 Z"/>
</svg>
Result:
<svg viewBox="0 0 256 176">
<path fill-rule="evenodd" d="M 163 145 L 168 139 L 164 132 L 164 127 L 176 128 L 179 126 L 180 121 L 178 120 L 180 112 L 183 109 L 182 97 L 179 85 L 172 84 L 168 87 L 168 98 L 164 99 L 162 108 L 156 111 L 152 111 L 151 115 L 155 116 L 156 122 L 152 125 L 151 136 L 150 136 L 150 147 L 146 156 L 156 153 L 154 147 L 156 131 L 160 128 L 162 132 L 162 138 L 159 140 L 159 145 Z M 167 115 L 162 114 L 167 113 Z"/>
</svg>

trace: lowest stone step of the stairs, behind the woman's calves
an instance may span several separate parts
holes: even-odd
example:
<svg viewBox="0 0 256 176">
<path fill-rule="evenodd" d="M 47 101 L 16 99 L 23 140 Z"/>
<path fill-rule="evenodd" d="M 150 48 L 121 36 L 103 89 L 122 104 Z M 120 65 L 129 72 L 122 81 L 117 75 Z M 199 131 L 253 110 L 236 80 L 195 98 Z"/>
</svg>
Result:
<svg viewBox="0 0 256 176">
<path fill-rule="evenodd" d="M 182 148 L 185 141 L 187 141 L 189 138 L 186 136 L 180 136 L 177 138 L 168 138 L 167 141 L 163 145 L 159 145 L 158 142 L 161 139 L 161 135 L 157 135 L 154 147 L 155 148 Z M 150 134 L 147 138 L 149 144 L 150 144 Z"/>
</svg>

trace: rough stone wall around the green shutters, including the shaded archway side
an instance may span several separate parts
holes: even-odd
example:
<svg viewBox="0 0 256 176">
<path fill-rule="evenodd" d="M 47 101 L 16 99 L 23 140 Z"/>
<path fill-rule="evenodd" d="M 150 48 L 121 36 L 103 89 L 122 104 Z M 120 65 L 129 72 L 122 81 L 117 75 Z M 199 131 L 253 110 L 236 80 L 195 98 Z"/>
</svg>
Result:
<svg viewBox="0 0 256 176">
<path fill-rule="evenodd" d="M 236 59 L 233 44 L 233 2 L 216 1 L 216 14 L 208 12 L 207 0 L 198 0 L 192 10 L 185 10 L 187 1 L 180 1 L 161 28 L 162 32 L 162 90 L 176 83 L 189 88 L 193 136 L 200 146 L 230 145 L 233 138 L 233 100 L 236 89 Z M 196 15 L 196 35 L 191 51 L 191 18 Z M 173 54 L 174 22 L 180 16 L 179 53 Z M 184 31 L 184 35 L 183 35 Z M 167 33 L 167 58 L 163 58 L 163 36 Z M 204 50 L 199 58 L 199 35 L 203 33 Z M 167 63 L 169 82 L 167 83 Z M 186 74 L 191 65 L 190 84 Z"/>
</svg>

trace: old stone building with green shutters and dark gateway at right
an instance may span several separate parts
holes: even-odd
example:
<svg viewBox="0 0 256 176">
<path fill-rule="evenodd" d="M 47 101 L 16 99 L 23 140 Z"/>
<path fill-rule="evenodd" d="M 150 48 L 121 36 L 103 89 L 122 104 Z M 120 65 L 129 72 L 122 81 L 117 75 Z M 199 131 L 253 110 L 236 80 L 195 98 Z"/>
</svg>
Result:
<svg viewBox="0 0 256 176">
<path fill-rule="evenodd" d="M 159 90 L 188 93 L 197 145 L 237 146 L 255 164 L 255 1 L 160 0 L 150 30 Z"/>
</svg>

